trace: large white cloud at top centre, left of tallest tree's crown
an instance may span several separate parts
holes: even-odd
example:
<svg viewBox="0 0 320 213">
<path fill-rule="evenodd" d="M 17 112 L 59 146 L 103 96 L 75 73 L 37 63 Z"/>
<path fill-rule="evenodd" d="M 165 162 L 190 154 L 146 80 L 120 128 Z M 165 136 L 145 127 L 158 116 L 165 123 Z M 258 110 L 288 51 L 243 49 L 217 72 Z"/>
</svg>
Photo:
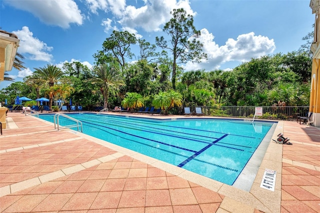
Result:
<svg viewBox="0 0 320 213">
<path fill-rule="evenodd" d="M 184 8 L 188 14 L 196 15 L 190 7 L 189 0 L 143 0 L 143 2 L 144 5 L 136 7 L 126 5 L 125 0 L 86 0 L 92 13 L 98 14 L 98 10 L 110 11 L 114 23 L 121 25 L 111 26 L 112 21 L 109 18 L 103 19 L 101 25 L 105 26 L 105 32 L 111 28 L 126 29 L 129 32 L 136 31 L 136 28 L 142 28 L 147 32 L 161 31 L 161 25 L 172 17 L 170 11 L 173 8 Z"/>
</svg>

